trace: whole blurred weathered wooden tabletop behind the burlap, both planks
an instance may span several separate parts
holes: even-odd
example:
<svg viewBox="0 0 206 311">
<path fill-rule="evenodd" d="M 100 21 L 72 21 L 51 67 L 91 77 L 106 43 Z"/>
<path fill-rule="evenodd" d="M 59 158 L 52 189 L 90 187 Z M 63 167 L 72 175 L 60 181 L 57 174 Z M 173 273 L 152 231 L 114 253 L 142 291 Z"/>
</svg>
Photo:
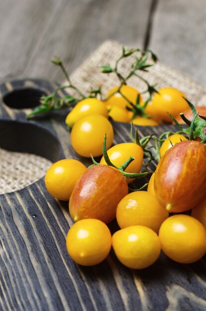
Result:
<svg viewBox="0 0 206 311">
<path fill-rule="evenodd" d="M 0 81 L 63 80 L 104 40 L 150 48 L 165 63 L 206 84 L 204 0 L 0 1 Z"/>
</svg>

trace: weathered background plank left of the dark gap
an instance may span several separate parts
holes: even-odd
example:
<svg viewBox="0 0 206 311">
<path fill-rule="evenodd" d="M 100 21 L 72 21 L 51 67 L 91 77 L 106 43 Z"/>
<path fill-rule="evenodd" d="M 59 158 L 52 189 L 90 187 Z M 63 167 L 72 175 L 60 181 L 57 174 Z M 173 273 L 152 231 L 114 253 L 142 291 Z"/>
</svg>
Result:
<svg viewBox="0 0 206 311">
<path fill-rule="evenodd" d="M 63 80 L 49 63 L 59 55 L 71 73 L 106 39 L 143 47 L 151 0 L 0 1 L 0 81 Z"/>
</svg>

